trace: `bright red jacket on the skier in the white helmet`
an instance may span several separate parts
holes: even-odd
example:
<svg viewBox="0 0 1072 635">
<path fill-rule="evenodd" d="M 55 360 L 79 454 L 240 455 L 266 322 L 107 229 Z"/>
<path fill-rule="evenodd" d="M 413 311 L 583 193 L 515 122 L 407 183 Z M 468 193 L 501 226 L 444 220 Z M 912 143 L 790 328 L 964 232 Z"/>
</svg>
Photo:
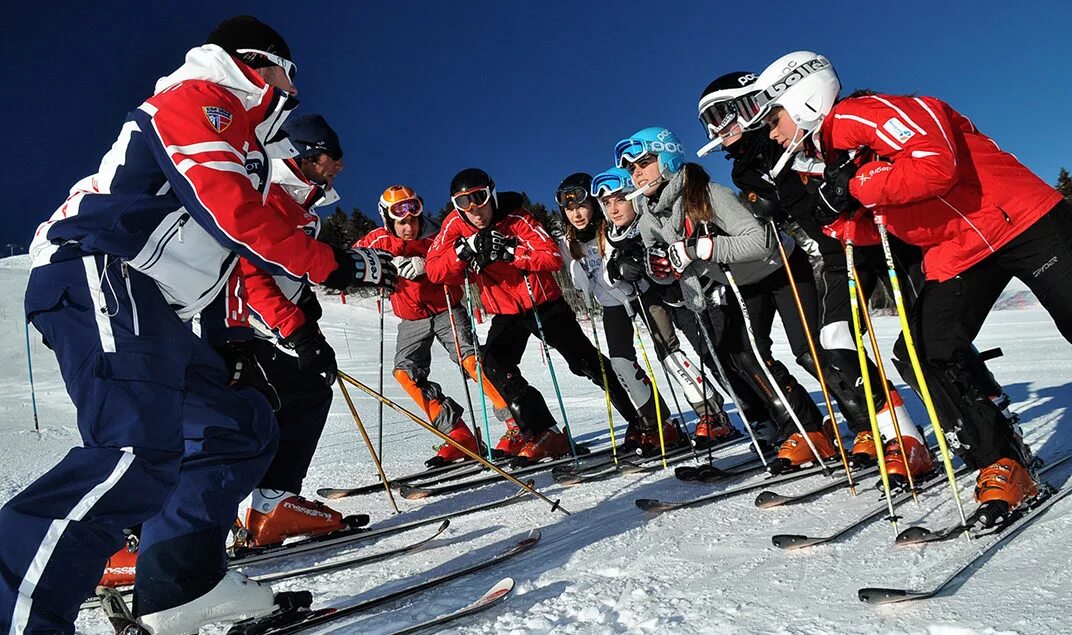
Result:
<svg viewBox="0 0 1072 635">
<path fill-rule="evenodd" d="M 962 274 L 1030 227 L 1061 195 L 932 97 L 873 94 L 843 100 L 820 129 L 830 160 L 867 148 L 879 160 L 849 191 L 885 217 L 890 233 L 923 249 L 927 279 Z"/>
</svg>

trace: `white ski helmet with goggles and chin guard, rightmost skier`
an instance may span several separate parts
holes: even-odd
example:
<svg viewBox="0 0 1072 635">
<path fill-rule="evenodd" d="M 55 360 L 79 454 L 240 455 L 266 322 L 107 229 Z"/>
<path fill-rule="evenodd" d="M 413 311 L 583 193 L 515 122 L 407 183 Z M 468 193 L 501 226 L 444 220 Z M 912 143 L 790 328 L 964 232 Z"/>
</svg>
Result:
<svg viewBox="0 0 1072 635">
<path fill-rule="evenodd" d="M 755 88 L 757 92 L 738 100 L 740 121 L 745 129 L 760 125 L 771 108 L 780 106 L 801 131 L 775 166 L 773 175 L 777 176 L 804 138 L 816 135 L 837 101 L 842 83 L 829 59 L 810 50 L 798 50 L 766 67 L 756 79 Z M 818 139 L 815 141 L 818 146 Z"/>
</svg>

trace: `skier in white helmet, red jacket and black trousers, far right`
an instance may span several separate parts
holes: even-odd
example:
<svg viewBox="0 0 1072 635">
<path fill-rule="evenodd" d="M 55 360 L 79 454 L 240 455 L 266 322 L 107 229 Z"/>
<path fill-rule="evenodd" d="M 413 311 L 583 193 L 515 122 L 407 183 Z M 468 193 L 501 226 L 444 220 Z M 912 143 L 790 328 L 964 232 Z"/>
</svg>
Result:
<svg viewBox="0 0 1072 635">
<path fill-rule="evenodd" d="M 927 383 L 961 413 L 944 424 L 961 457 L 981 470 L 977 518 L 1004 517 L 1037 492 L 1032 458 L 957 360 L 1013 277 L 1072 341 L 1072 205 L 941 100 L 861 91 L 836 101 L 833 67 L 810 51 L 763 75 L 771 80 L 750 103 L 766 109 L 771 138 L 825 163 L 817 218 L 858 235 L 878 219 L 923 249 L 926 283 L 911 324 Z"/>
</svg>

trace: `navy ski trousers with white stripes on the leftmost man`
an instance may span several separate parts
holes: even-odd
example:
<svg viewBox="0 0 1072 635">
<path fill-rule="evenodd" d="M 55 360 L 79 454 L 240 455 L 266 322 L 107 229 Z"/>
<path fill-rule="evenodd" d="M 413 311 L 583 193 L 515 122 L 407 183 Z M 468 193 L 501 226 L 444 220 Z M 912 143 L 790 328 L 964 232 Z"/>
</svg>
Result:
<svg viewBox="0 0 1072 635">
<path fill-rule="evenodd" d="M 0 510 L 0 633 L 73 633 L 139 522 L 136 611 L 204 594 L 276 451 L 268 401 L 228 387 L 220 356 L 117 259 L 33 269 L 26 312 L 59 360 L 83 446 Z"/>
</svg>

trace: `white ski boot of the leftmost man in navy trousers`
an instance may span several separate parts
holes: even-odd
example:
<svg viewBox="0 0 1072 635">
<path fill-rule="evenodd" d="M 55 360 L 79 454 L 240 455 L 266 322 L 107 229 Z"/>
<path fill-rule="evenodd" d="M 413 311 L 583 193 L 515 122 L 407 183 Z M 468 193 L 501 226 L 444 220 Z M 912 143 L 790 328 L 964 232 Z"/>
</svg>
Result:
<svg viewBox="0 0 1072 635">
<path fill-rule="evenodd" d="M 283 595 L 281 593 L 281 595 Z M 271 587 L 228 571 L 208 593 L 173 608 L 142 616 L 154 635 L 196 633 L 200 626 L 271 614 L 279 608 Z"/>
</svg>

